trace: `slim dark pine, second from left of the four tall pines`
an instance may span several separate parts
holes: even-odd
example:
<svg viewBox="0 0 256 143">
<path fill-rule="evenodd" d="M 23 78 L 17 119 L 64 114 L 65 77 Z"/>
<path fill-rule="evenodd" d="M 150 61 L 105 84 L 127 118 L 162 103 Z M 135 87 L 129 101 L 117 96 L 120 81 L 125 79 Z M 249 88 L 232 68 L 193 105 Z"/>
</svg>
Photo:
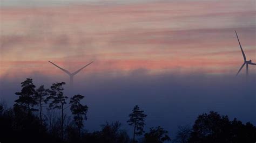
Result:
<svg viewBox="0 0 256 143">
<path fill-rule="evenodd" d="M 44 89 L 44 85 L 41 85 L 38 89 L 36 89 L 34 99 L 39 104 L 39 117 L 40 117 L 40 122 L 42 124 L 42 106 L 43 103 L 45 102 L 45 96 L 48 95 L 48 92 Z"/>
</svg>

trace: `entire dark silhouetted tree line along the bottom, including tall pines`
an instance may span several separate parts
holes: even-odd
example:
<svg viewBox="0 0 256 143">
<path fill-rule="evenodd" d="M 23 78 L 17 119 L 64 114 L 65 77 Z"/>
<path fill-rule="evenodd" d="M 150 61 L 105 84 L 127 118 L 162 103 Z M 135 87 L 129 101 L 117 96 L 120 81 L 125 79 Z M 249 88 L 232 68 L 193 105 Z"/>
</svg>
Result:
<svg viewBox="0 0 256 143">
<path fill-rule="evenodd" d="M 44 85 L 36 88 L 32 79 L 26 78 L 21 83 L 22 90 L 15 93 L 18 99 L 12 108 L 8 108 L 4 101 L 0 103 L 0 142 L 185 143 L 256 140 L 256 127 L 253 124 L 243 124 L 236 118 L 230 120 L 213 111 L 199 115 L 192 127 L 179 126 L 171 140 L 168 131 L 161 126 L 144 131 L 147 115 L 138 105 L 134 106 L 127 118 L 127 124 L 132 128 L 132 138 L 121 129 L 119 121 L 106 121 L 100 131 L 88 132 L 84 121 L 87 120 L 89 107 L 81 103 L 84 96 L 74 95 L 68 102 L 63 85 L 65 82 L 57 82 L 49 89 L 45 89 Z M 46 112 L 43 112 L 43 108 Z M 71 117 L 65 114 L 66 109 L 71 111 Z"/>
</svg>

